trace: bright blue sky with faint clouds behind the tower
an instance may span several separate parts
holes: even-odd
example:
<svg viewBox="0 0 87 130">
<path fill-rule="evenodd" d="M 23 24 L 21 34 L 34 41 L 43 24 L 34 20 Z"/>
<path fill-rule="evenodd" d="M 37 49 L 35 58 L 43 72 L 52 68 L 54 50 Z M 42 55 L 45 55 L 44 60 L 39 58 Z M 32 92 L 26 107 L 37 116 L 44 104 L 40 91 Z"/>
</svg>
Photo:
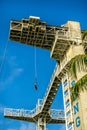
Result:
<svg viewBox="0 0 87 130">
<path fill-rule="evenodd" d="M 50 52 L 37 49 L 38 91 L 34 90 L 34 48 L 9 40 L 10 21 L 38 16 L 51 25 L 62 25 L 68 20 L 79 21 L 87 29 L 86 0 L 0 0 L 0 65 L 6 44 L 6 56 L 0 68 L 0 130 L 35 130 L 35 124 L 4 119 L 5 107 L 33 109 L 38 98 L 43 98 L 52 75 L 55 60 Z M 61 99 L 61 100 L 60 100 Z M 60 87 L 52 104 L 63 109 Z M 65 130 L 65 125 L 47 125 L 49 130 Z"/>
</svg>

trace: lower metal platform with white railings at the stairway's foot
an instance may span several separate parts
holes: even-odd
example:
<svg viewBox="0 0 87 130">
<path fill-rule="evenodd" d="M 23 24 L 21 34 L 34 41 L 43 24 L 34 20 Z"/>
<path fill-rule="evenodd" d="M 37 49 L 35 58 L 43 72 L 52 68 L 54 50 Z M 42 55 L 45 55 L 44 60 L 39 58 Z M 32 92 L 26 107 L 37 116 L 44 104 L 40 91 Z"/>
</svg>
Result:
<svg viewBox="0 0 87 130">
<path fill-rule="evenodd" d="M 65 123 L 63 110 L 52 109 L 52 110 L 49 110 L 46 114 L 48 115 L 47 117 L 41 118 L 41 115 L 42 115 L 41 109 L 39 109 L 38 111 L 36 110 L 36 108 L 33 110 L 5 108 L 4 110 L 4 117 L 6 118 L 24 120 L 28 122 L 38 122 L 38 117 L 39 117 L 42 120 L 45 119 L 45 122 L 48 124 Z"/>
</svg>

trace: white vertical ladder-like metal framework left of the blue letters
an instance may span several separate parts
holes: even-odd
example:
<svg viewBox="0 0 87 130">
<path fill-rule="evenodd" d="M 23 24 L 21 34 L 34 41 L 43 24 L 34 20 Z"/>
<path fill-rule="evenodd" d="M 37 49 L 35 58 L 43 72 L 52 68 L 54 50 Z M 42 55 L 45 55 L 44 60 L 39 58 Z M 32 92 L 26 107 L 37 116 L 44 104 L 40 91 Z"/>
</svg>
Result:
<svg viewBox="0 0 87 130">
<path fill-rule="evenodd" d="M 64 109 L 65 109 L 65 118 L 66 118 L 66 130 L 74 130 L 73 125 L 73 112 L 71 107 L 71 98 L 70 98 L 70 79 L 66 73 L 62 79 L 62 90 L 63 90 L 63 99 L 64 99 Z"/>
</svg>

